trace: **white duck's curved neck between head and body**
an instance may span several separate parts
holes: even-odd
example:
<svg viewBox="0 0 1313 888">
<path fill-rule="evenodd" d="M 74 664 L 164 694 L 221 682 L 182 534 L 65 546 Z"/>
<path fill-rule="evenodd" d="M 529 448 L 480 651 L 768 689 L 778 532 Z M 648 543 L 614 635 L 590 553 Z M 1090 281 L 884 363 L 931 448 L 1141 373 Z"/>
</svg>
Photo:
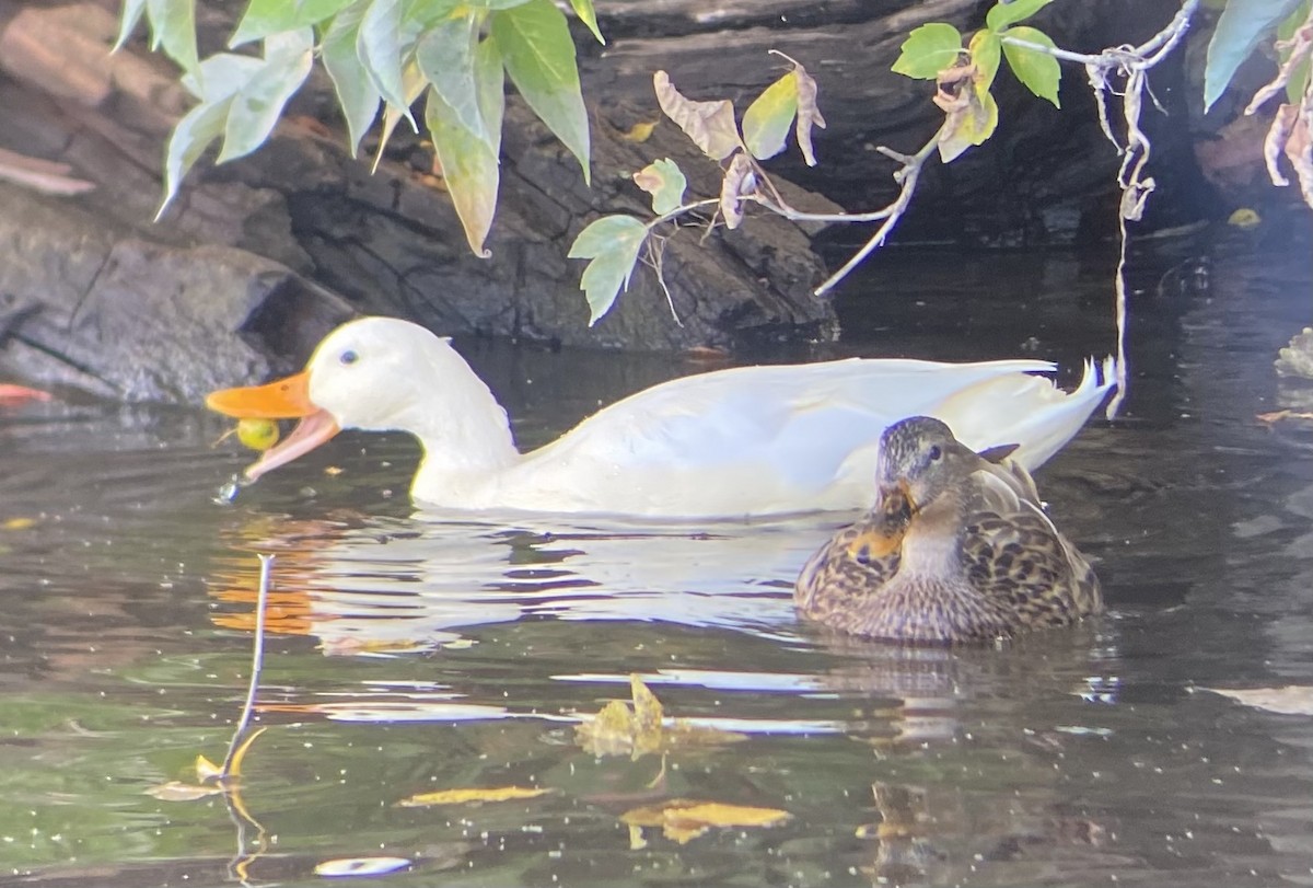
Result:
<svg viewBox="0 0 1313 888">
<path fill-rule="evenodd" d="M 462 357 L 448 347 L 429 363 L 431 397 L 403 407 L 395 424 L 424 447 L 414 486 L 429 500 L 460 503 L 515 465 L 520 452 L 506 410 Z"/>
</svg>

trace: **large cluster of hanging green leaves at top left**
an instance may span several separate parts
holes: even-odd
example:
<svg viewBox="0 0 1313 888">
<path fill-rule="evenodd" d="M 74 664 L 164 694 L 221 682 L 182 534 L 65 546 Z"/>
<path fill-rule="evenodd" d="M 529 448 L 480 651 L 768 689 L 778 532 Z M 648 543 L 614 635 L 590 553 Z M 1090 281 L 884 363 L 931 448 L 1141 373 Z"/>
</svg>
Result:
<svg viewBox="0 0 1313 888">
<path fill-rule="evenodd" d="M 196 0 L 125 0 L 118 46 L 142 17 L 151 46 L 184 71 L 200 102 L 173 130 L 164 201 L 214 142 L 218 162 L 263 144 L 318 58 L 332 79 L 352 154 L 382 109 L 379 155 L 411 105 L 427 96 L 424 122 L 470 248 L 486 255 L 502 144 L 503 72 L 588 176 L 588 117 L 574 41 L 551 0 L 249 0 L 230 46 L 263 42 L 263 54 L 197 58 Z M 571 9 L 601 41 L 592 0 Z"/>
</svg>

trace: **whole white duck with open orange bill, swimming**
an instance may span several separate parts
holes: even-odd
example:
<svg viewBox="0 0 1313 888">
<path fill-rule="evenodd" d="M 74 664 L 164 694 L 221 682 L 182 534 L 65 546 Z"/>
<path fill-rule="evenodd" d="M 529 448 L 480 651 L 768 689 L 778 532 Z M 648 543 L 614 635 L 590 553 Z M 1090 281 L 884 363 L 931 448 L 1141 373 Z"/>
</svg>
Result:
<svg viewBox="0 0 1313 888">
<path fill-rule="evenodd" d="M 520 453 L 506 410 L 446 339 L 394 318 L 351 321 L 306 369 L 225 389 L 235 418 L 301 423 L 251 465 L 255 479 L 341 428 L 404 431 L 424 447 L 411 497 L 460 510 L 744 518 L 871 504 L 880 435 L 930 415 L 976 451 L 1019 444 L 1027 469 L 1070 440 L 1112 388 L 1087 363 L 1071 393 L 1032 376 L 1046 361 L 848 359 L 743 366 L 671 380 Z"/>
</svg>

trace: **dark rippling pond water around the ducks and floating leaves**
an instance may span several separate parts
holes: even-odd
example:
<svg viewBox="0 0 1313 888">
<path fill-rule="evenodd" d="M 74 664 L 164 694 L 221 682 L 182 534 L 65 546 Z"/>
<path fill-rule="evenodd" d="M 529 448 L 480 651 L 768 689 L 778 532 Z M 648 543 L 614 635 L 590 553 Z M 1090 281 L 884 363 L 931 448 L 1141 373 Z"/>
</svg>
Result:
<svg viewBox="0 0 1313 888">
<path fill-rule="evenodd" d="M 1040 476 L 1112 612 L 999 650 L 800 624 L 789 590 L 825 522 L 412 515 L 414 445 L 364 435 L 222 506 L 247 457 L 210 447 L 215 419 L 5 410 L 0 884 L 316 884 L 376 856 L 407 863 L 376 879 L 397 885 L 1313 884 L 1313 717 L 1203 690 L 1313 686 L 1313 427 L 1255 419 L 1313 401 L 1272 373 L 1309 322 L 1309 255 L 1236 240 L 1207 289 L 1173 269 L 1188 250 L 1137 268 L 1123 416 Z M 1111 348 L 1104 259 L 888 256 L 852 290 L 842 353 L 1070 370 Z M 467 352 L 530 444 L 695 369 Z M 236 797 L 156 799 L 223 757 L 256 553 L 277 556 L 268 730 Z M 579 749 L 574 724 L 630 673 L 747 740 Z M 395 804 L 512 784 L 551 792 Z M 620 820 L 676 797 L 792 818 L 683 845 Z"/>
</svg>

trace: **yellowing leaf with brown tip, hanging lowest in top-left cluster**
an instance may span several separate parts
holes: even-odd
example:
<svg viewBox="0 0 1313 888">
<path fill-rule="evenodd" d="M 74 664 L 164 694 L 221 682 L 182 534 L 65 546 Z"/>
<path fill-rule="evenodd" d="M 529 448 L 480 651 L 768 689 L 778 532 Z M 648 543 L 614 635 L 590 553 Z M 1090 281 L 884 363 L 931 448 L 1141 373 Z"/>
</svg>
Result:
<svg viewBox="0 0 1313 888">
<path fill-rule="evenodd" d="M 500 184 L 498 156 L 482 135 L 467 130 L 456 110 L 448 105 L 437 89 L 428 91 L 424 105 L 424 121 L 428 123 L 433 148 L 442 164 L 442 180 L 452 196 L 456 214 L 461 217 L 465 239 L 477 256 L 487 257 L 483 247 L 492 229 L 492 215 L 496 210 L 496 192 Z"/>
</svg>

